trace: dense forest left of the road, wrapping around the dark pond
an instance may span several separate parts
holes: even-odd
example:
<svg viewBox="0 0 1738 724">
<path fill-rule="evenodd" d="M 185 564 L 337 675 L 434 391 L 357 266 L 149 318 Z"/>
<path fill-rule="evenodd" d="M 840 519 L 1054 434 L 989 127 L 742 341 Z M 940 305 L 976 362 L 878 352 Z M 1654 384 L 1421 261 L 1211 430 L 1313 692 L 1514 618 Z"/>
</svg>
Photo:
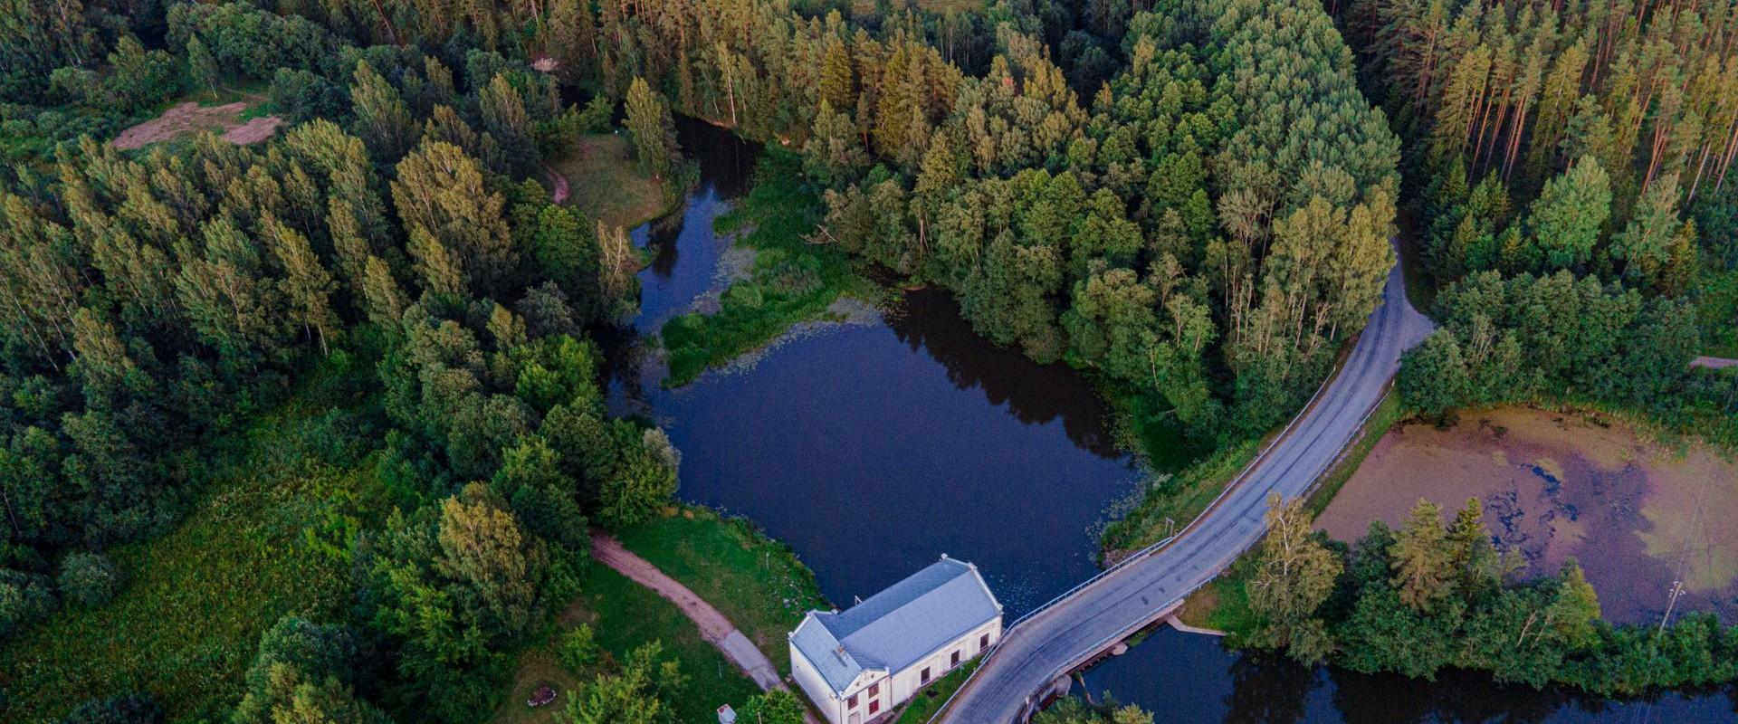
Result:
<svg viewBox="0 0 1738 724">
<path fill-rule="evenodd" d="M 605 415 L 587 340 L 634 316 L 640 259 L 535 181 L 580 132 L 620 122 L 671 179 L 673 111 L 789 148 L 815 243 L 1206 439 L 1295 408 L 1392 262 L 1399 142 L 1310 3 L 5 10 L 0 635 L 122 590 L 104 550 L 172 530 L 210 446 L 309 380 L 348 391 L 313 438 L 384 484 L 375 523 L 309 533 L 353 571 L 348 616 L 264 632 L 236 721 L 480 719 L 574 596 L 587 521 L 674 491 L 680 455 Z M 231 85 L 289 128 L 104 142 Z M 667 721 L 634 701 L 680 681 L 653 646 L 568 714 Z M 78 715 L 155 707 L 92 694 Z"/>
</svg>

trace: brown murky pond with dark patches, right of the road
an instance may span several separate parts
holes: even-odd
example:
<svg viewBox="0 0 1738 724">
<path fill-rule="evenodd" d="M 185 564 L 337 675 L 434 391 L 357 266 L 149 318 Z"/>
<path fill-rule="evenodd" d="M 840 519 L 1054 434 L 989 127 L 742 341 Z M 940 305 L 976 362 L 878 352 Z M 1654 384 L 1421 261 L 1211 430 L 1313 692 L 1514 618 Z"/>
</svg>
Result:
<svg viewBox="0 0 1738 724">
<path fill-rule="evenodd" d="M 1529 408 L 1465 415 L 1449 429 L 1397 425 L 1316 526 L 1354 540 L 1397 524 L 1418 498 L 1484 504 L 1498 543 L 1528 573 L 1580 561 L 1606 618 L 1656 622 L 1677 609 L 1738 622 L 1738 464 L 1714 450 L 1667 450 L 1609 420 Z"/>
</svg>

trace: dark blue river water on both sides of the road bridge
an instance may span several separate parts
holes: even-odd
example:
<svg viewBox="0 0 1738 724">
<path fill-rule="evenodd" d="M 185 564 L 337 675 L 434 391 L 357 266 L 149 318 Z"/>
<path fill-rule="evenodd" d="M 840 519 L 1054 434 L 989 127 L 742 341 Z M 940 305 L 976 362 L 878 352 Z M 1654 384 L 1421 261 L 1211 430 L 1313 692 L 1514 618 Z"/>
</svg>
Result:
<svg viewBox="0 0 1738 724">
<path fill-rule="evenodd" d="M 728 240 L 713 219 L 749 181 L 754 149 L 678 120 L 700 182 L 667 219 L 634 231 L 655 333 L 716 286 Z M 972 561 L 1010 620 L 1095 571 L 1105 509 L 1142 479 L 1093 389 L 975 335 L 947 293 L 907 292 L 879 319 L 793 335 L 753 365 L 666 391 L 614 354 L 617 411 L 662 425 L 681 450 L 683 500 L 744 514 L 815 571 L 836 604 L 947 554 Z M 1738 721 L 1726 691 L 1587 700 L 1496 686 L 1302 668 L 1164 629 L 1085 675 L 1086 689 L 1164 722 L 1712 722 Z"/>
</svg>

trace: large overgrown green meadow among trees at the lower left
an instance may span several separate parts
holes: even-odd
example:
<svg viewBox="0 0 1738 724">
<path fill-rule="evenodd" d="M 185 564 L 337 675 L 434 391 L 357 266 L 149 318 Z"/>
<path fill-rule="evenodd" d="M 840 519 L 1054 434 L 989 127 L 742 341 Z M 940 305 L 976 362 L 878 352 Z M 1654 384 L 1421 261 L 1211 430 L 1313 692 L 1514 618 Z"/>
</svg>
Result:
<svg viewBox="0 0 1738 724">
<path fill-rule="evenodd" d="M 54 721 L 101 694 L 151 691 L 172 719 L 221 717 L 242 694 L 259 634 L 280 616 L 334 620 L 349 601 L 337 552 L 384 507 L 365 415 L 327 411 L 323 377 L 212 444 L 203 495 L 170 533 L 109 550 L 129 587 L 61 609 L 0 651 L 0 721 Z M 224 455 L 224 450 L 235 453 Z"/>
</svg>

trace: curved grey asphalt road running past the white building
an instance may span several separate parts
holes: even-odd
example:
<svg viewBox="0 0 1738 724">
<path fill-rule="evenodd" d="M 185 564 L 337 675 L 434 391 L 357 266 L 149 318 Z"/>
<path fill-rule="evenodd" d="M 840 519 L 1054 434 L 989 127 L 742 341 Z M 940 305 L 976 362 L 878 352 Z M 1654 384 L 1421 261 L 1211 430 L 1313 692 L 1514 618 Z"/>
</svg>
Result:
<svg viewBox="0 0 1738 724">
<path fill-rule="evenodd" d="M 1244 476 L 1166 547 L 1140 554 L 1015 625 L 937 721 L 1008 724 L 1050 682 L 1182 604 L 1264 533 L 1267 493 L 1298 497 L 1352 441 L 1432 323 L 1406 302 L 1399 264 L 1345 366 Z"/>
</svg>

